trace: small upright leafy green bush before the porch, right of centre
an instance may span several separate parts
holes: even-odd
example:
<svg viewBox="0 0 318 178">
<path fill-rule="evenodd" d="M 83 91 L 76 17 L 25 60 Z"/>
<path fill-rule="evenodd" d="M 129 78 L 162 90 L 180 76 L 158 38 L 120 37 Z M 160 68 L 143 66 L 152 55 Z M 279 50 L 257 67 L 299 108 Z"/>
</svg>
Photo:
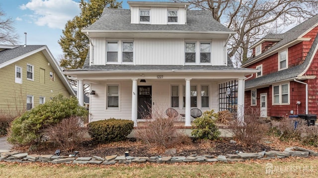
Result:
<svg viewBox="0 0 318 178">
<path fill-rule="evenodd" d="M 214 110 L 206 111 L 203 113 L 202 117 L 194 119 L 194 124 L 196 128 L 192 129 L 192 136 L 201 139 L 216 140 L 221 135 L 215 121 L 218 117 Z"/>
</svg>

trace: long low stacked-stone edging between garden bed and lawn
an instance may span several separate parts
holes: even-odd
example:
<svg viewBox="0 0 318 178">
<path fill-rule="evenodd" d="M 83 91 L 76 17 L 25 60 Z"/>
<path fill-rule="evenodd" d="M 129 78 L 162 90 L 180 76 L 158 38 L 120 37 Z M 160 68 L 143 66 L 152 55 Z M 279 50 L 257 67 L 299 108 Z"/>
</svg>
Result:
<svg viewBox="0 0 318 178">
<path fill-rule="evenodd" d="M 0 150 L 0 161 L 5 162 L 19 162 L 19 163 L 32 163 L 32 162 L 45 162 L 52 164 L 69 163 L 69 164 L 101 164 L 101 165 L 113 165 L 113 164 L 129 164 L 129 163 L 177 163 L 177 162 L 234 162 L 234 161 L 245 161 L 250 159 L 279 159 L 294 157 L 309 157 L 318 156 L 318 152 L 308 150 L 301 147 L 289 147 L 283 152 L 280 151 L 262 151 L 259 153 L 237 153 L 237 154 L 226 154 L 219 155 L 218 157 L 212 155 L 190 155 L 190 156 L 152 156 L 152 157 L 132 157 L 132 156 L 118 156 L 110 155 L 104 158 L 93 156 L 93 157 L 66 157 L 57 155 L 28 155 L 28 153 L 20 153 L 10 150 Z"/>
</svg>

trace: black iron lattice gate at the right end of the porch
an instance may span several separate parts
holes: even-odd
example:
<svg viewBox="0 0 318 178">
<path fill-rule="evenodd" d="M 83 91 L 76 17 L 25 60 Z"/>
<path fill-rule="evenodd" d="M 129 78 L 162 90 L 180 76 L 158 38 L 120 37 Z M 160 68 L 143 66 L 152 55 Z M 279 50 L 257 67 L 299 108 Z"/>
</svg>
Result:
<svg viewBox="0 0 318 178">
<path fill-rule="evenodd" d="M 238 110 L 238 80 L 219 84 L 219 111 Z"/>
</svg>

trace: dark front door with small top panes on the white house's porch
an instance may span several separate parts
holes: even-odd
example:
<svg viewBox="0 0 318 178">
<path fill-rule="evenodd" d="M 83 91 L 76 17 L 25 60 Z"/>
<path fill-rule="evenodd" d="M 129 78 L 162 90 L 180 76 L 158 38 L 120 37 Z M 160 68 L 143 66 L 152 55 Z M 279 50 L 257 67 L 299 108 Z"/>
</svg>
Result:
<svg viewBox="0 0 318 178">
<path fill-rule="evenodd" d="M 151 86 L 138 86 L 138 119 L 151 118 L 151 91 Z"/>
</svg>

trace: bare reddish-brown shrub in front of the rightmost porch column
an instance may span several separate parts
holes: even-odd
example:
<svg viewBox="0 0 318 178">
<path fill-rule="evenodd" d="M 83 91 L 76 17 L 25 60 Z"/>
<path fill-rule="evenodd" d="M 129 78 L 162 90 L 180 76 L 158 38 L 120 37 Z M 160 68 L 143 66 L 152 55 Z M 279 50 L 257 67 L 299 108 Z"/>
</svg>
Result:
<svg viewBox="0 0 318 178">
<path fill-rule="evenodd" d="M 245 109 L 244 121 L 241 122 L 240 119 L 234 121 L 232 129 L 234 138 L 246 146 L 259 142 L 268 130 L 268 126 L 258 121 L 259 116 L 259 112 L 256 110 Z"/>
</svg>

